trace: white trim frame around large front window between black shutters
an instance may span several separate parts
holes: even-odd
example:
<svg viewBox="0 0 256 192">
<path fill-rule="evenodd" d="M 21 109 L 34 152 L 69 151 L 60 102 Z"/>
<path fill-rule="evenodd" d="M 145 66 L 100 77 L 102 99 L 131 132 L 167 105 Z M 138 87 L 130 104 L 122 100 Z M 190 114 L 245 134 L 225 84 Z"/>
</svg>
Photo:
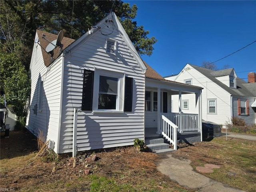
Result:
<svg viewBox="0 0 256 192">
<path fill-rule="evenodd" d="M 116 98 L 116 109 L 98 109 L 100 76 L 118 78 L 118 92 Z M 92 112 L 124 112 L 124 83 L 125 74 L 102 69 L 95 69 L 93 84 Z"/>
</svg>

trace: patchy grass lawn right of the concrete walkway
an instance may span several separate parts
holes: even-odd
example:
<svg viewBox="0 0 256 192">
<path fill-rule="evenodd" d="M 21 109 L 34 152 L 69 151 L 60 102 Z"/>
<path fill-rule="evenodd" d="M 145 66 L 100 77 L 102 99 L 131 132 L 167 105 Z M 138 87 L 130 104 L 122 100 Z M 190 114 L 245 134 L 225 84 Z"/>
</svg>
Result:
<svg viewBox="0 0 256 192">
<path fill-rule="evenodd" d="M 208 163 L 220 165 L 220 169 L 204 175 L 235 188 L 255 192 L 256 143 L 245 143 L 246 141 L 226 141 L 222 137 L 214 138 L 211 142 L 180 148 L 174 154 L 191 160 L 194 169 Z"/>
</svg>

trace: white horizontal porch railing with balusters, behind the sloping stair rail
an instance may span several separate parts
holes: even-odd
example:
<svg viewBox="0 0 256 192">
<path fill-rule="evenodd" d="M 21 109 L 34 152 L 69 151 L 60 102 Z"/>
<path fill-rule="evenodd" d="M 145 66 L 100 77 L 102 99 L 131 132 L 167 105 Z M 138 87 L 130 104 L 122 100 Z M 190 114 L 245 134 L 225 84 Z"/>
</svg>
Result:
<svg viewBox="0 0 256 192">
<path fill-rule="evenodd" d="M 166 118 L 178 126 L 178 132 L 196 132 L 199 131 L 198 114 L 186 113 L 162 113 Z M 181 118 L 181 119 L 180 119 Z M 161 124 L 161 127 L 163 125 Z"/>
</svg>

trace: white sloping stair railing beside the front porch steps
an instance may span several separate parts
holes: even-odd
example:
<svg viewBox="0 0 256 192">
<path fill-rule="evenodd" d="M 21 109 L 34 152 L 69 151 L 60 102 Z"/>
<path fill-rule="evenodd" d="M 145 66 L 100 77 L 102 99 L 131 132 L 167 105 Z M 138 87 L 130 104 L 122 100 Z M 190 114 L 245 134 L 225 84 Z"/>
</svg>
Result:
<svg viewBox="0 0 256 192">
<path fill-rule="evenodd" d="M 173 122 L 171 122 L 168 118 L 162 115 L 162 135 L 173 144 L 173 149 L 177 150 L 177 130 L 178 126 L 176 126 Z"/>
</svg>

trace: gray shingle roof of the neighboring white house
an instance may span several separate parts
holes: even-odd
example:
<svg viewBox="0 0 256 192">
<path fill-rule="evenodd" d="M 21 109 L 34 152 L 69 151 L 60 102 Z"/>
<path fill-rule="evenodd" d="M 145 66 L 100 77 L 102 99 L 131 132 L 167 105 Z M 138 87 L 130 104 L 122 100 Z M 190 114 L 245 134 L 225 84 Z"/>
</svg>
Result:
<svg viewBox="0 0 256 192">
<path fill-rule="evenodd" d="M 256 96 L 256 93 L 255 93 L 256 91 L 252 91 L 252 88 L 254 85 L 252 85 L 251 86 L 252 88 L 250 88 L 250 85 L 248 86 L 248 83 L 246 83 L 244 80 L 240 79 L 239 77 L 236 78 L 236 89 L 226 86 L 224 83 L 220 82 L 218 79 L 215 78 L 215 77 L 229 75 L 232 72 L 233 68 L 226 69 L 226 70 L 220 70 L 220 71 L 214 71 L 214 70 L 206 69 L 206 68 L 199 67 L 199 66 L 192 65 L 192 64 L 189 64 L 189 65 L 192 66 L 193 68 L 195 68 L 196 70 L 198 70 L 198 72 L 202 73 L 204 76 L 206 76 L 211 81 L 218 84 L 221 88 L 223 88 L 224 90 L 226 90 L 227 92 L 229 92 L 232 95 L 251 96 L 251 97 Z M 254 89 L 254 90 L 256 90 L 256 89 Z"/>
</svg>

